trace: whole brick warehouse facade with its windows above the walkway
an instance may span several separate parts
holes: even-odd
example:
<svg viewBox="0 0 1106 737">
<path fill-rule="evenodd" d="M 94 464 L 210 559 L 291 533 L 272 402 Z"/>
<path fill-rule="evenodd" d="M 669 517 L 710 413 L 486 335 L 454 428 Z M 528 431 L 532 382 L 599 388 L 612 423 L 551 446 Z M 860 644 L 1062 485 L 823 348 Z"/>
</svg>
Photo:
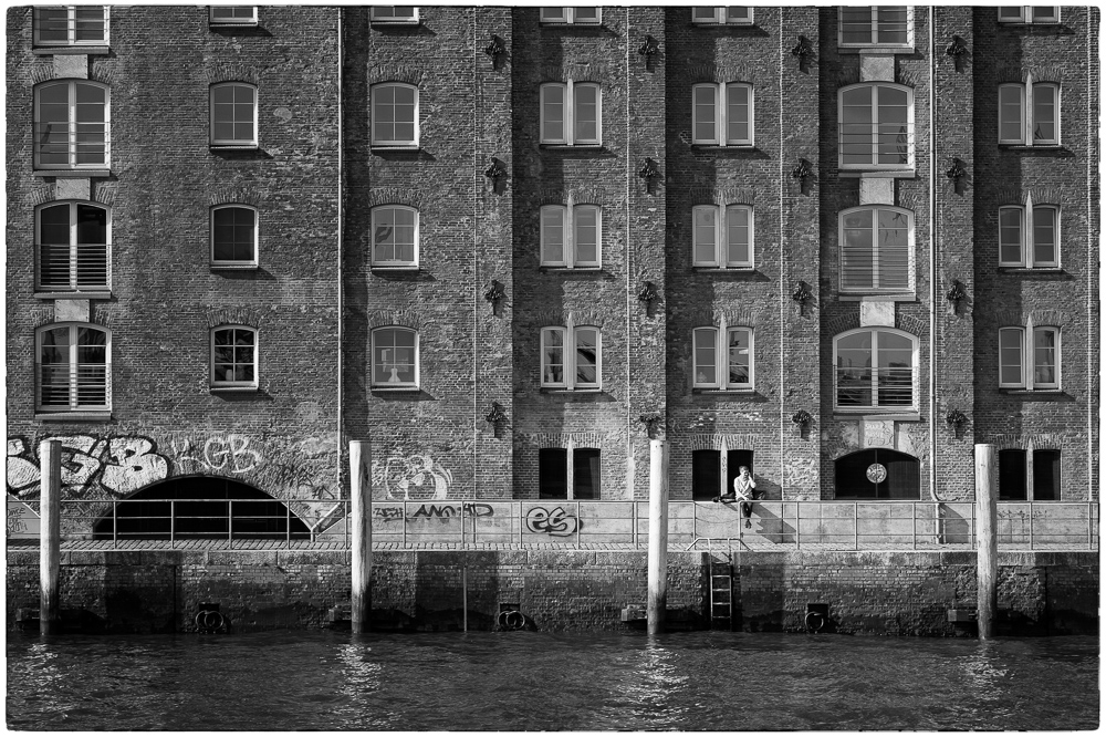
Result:
<svg viewBox="0 0 1106 737">
<path fill-rule="evenodd" d="M 10 8 L 9 497 L 1097 499 L 1098 23 Z"/>
</svg>

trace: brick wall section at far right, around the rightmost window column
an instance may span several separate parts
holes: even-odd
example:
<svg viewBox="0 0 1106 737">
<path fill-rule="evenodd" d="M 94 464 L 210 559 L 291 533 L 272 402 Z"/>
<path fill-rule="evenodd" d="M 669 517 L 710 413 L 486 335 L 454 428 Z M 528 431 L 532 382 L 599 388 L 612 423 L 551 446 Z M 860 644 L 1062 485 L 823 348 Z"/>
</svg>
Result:
<svg viewBox="0 0 1106 737">
<path fill-rule="evenodd" d="M 1088 196 L 1098 160 L 1096 8 L 1064 7 L 1058 25 L 999 25 L 975 8 L 974 66 L 974 407 L 977 443 L 1062 453 L 1063 499 L 1097 498 L 1097 197 Z M 1060 83 L 1060 146 L 999 146 L 999 84 Z M 999 268 L 999 206 L 1060 207 L 1060 269 Z M 999 388 L 999 329 L 1061 329 L 1060 392 Z"/>
</svg>

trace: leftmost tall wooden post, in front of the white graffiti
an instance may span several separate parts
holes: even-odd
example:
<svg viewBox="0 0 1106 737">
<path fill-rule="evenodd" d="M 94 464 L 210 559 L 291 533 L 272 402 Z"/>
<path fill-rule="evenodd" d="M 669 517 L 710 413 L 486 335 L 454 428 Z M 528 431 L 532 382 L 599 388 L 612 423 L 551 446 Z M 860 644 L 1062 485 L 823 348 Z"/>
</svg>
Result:
<svg viewBox="0 0 1106 737">
<path fill-rule="evenodd" d="M 43 440 L 39 445 L 39 466 L 42 473 L 39 496 L 42 515 L 39 538 L 39 632 L 61 632 L 61 605 L 58 574 L 61 570 L 61 511 L 62 511 L 62 444 Z"/>
</svg>

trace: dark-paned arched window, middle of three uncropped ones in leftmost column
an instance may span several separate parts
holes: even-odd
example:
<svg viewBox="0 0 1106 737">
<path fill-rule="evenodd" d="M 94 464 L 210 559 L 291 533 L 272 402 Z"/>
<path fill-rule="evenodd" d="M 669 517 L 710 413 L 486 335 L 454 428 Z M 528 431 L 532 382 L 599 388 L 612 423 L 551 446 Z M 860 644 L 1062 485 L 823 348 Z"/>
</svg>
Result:
<svg viewBox="0 0 1106 737">
<path fill-rule="evenodd" d="M 111 289 L 111 209 L 98 203 L 53 201 L 34 210 L 35 289 L 105 292 Z"/>
</svg>

